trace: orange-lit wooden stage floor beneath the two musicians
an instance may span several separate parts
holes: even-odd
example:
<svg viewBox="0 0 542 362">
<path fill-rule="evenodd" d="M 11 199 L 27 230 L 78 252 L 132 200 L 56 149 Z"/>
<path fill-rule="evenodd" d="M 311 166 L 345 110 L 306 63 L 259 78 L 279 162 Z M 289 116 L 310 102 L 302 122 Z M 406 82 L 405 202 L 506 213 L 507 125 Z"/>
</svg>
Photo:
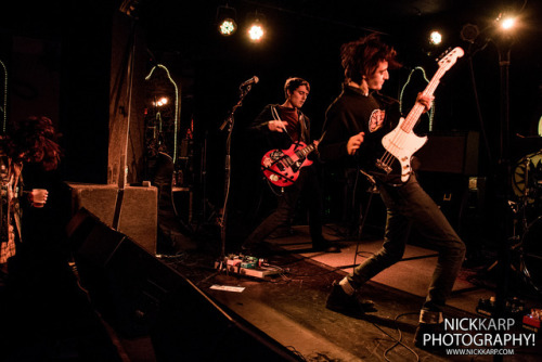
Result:
<svg viewBox="0 0 542 362">
<path fill-rule="evenodd" d="M 325 228 L 325 234 L 328 240 L 337 238 L 333 225 Z M 294 235 L 268 242 L 276 249 L 269 261 L 283 270 L 280 275 L 256 280 L 220 273 L 199 286 L 307 360 L 415 361 L 416 354 L 423 361 L 493 360 L 493 355 L 433 354 L 414 347 L 413 333 L 435 268 L 435 251 L 409 245 L 403 261 L 382 272 L 363 288 L 377 311 L 356 319 L 327 310 L 325 300 L 332 282 L 352 270 L 357 241 L 337 241 L 341 246 L 339 254 L 311 253 L 307 227 L 295 227 Z M 382 240 L 362 241 L 357 263 L 378 250 L 380 244 Z M 448 318 L 482 318 L 476 312 L 478 301 L 494 296 L 494 292 L 470 283 L 470 276 L 473 272 L 463 270 L 457 279 L 446 310 Z M 217 290 L 210 288 L 212 285 L 244 289 L 241 293 Z M 393 347 L 398 339 L 403 345 Z M 506 359 L 533 361 L 534 355 L 541 353 L 540 347 L 516 348 L 515 357 Z"/>
</svg>

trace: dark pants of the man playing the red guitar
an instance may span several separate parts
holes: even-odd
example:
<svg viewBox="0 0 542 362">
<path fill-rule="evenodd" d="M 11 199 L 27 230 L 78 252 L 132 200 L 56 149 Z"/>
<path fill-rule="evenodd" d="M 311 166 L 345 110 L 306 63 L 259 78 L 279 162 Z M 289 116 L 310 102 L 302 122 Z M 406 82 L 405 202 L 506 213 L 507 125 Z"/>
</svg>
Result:
<svg viewBox="0 0 542 362">
<path fill-rule="evenodd" d="M 322 243 L 322 193 L 317 167 L 312 165 L 304 167 L 297 181 L 293 185 L 284 188 L 284 193 L 279 197 L 276 209 L 248 235 L 243 247 L 250 248 L 260 244 L 273 231 L 286 224 L 295 212 L 299 197 L 302 197 L 309 208 L 309 231 L 312 245 Z"/>
</svg>

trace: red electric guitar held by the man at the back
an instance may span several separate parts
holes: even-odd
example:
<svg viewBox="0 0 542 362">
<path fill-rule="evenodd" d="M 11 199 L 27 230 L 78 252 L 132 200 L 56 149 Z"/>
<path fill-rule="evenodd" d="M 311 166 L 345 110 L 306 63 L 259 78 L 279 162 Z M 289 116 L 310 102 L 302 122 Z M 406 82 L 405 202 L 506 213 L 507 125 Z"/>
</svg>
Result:
<svg viewBox="0 0 542 362">
<path fill-rule="evenodd" d="M 289 186 L 296 182 L 301 167 L 312 165 L 307 155 L 314 151 L 314 143 L 296 142 L 287 150 L 271 150 L 261 158 L 261 170 L 276 186 Z"/>
</svg>

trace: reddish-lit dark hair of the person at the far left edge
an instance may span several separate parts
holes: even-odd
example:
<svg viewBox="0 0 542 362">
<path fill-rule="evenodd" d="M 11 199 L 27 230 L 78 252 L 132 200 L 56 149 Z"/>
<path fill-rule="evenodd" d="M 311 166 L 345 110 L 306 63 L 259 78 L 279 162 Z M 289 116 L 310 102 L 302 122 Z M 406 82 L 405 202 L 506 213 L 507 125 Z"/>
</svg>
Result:
<svg viewBox="0 0 542 362">
<path fill-rule="evenodd" d="M 53 170 L 59 167 L 62 156 L 60 137 L 51 119 L 30 116 L 15 125 L 10 137 L 11 157 L 15 161 L 41 164 L 47 171 Z"/>
</svg>

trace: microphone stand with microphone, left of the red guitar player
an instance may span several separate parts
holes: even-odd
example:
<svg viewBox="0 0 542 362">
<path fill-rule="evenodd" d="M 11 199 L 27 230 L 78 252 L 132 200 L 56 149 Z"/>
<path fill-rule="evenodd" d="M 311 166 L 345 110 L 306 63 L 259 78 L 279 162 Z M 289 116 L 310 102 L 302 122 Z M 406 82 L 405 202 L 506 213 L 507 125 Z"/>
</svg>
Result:
<svg viewBox="0 0 542 362">
<path fill-rule="evenodd" d="M 220 126 L 220 130 L 224 130 L 228 128 L 228 138 L 225 141 L 225 161 L 224 161 L 224 204 L 222 206 L 222 217 L 220 218 L 220 241 L 221 241 L 221 248 L 220 248 L 220 264 L 219 268 L 222 268 L 222 262 L 225 262 L 225 223 L 227 223 L 227 217 L 228 217 L 228 199 L 230 197 L 230 184 L 231 184 L 231 146 L 232 146 L 232 131 L 233 131 L 233 124 L 234 124 L 234 114 L 235 111 L 237 111 L 238 107 L 243 105 L 243 100 L 245 99 L 246 94 L 251 89 L 251 85 L 247 85 L 245 87 L 241 86 L 240 87 L 240 100 L 238 102 L 233 106 L 231 109 L 230 114 L 223 121 L 222 126 Z M 225 266 L 225 264 L 224 264 Z"/>
</svg>

